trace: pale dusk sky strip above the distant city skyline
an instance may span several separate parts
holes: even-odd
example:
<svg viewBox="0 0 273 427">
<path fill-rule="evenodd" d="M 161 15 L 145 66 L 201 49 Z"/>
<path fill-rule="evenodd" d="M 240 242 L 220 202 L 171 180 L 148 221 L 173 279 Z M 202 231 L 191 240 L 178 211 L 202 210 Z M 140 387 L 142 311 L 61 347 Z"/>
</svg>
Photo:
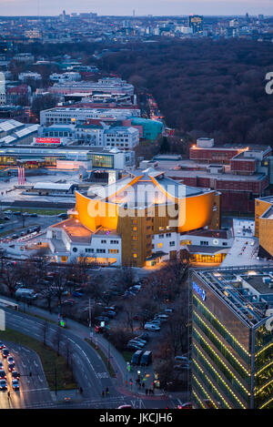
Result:
<svg viewBox="0 0 273 427">
<path fill-rule="evenodd" d="M 273 15 L 273 0 L 0 0 L 0 15 Z"/>
</svg>

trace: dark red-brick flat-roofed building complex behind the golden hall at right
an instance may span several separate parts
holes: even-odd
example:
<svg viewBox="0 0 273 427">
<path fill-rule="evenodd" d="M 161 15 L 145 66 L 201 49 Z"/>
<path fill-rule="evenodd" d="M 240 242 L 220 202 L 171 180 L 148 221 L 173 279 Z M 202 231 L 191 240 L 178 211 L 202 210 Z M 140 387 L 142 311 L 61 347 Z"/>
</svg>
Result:
<svg viewBox="0 0 273 427">
<path fill-rule="evenodd" d="M 250 213 L 255 198 L 269 193 L 271 154 L 271 147 L 214 147 L 213 139 L 201 138 L 190 148 L 189 159 L 156 156 L 147 167 L 157 165 L 169 178 L 188 186 L 220 191 L 223 212 Z"/>
</svg>

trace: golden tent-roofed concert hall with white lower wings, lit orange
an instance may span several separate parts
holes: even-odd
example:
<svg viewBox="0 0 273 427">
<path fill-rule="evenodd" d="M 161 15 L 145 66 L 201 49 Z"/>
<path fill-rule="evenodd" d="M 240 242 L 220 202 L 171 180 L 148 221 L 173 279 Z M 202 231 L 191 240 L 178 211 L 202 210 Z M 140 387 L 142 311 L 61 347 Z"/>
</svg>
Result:
<svg viewBox="0 0 273 427">
<path fill-rule="evenodd" d="M 177 259 L 188 231 L 219 229 L 219 203 L 215 190 L 137 169 L 106 187 L 76 191 L 70 218 L 50 227 L 47 238 L 58 262 L 151 266 Z"/>
</svg>

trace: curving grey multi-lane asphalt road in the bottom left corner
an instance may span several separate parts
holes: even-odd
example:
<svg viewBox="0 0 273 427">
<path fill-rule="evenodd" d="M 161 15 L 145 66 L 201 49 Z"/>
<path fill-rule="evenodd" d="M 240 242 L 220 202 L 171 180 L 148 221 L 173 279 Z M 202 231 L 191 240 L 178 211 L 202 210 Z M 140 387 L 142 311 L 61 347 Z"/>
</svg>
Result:
<svg viewBox="0 0 273 427">
<path fill-rule="evenodd" d="M 25 313 L 5 309 L 5 323 L 7 329 L 18 330 L 35 338 L 35 340 L 43 341 L 44 320 L 33 318 Z M 58 327 L 55 324 L 47 322 L 48 331 L 46 333 L 46 343 L 55 347 L 54 338 Z M 42 382 L 42 367 L 38 365 L 36 368 L 37 375 L 34 380 L 27 377 L 24 381 L 25 396 L 24 399 L 16 400 L 10 404 L 17 404 L 20 408 L 52 408 L 52 407 L 73 407 L 73 408 L 116 408 L 122 404 L 131 404 L 132 407 L 141 408 L 175 408 L 179 403 L 179 399 L 146 399 L 145 397 L 139 398 L 130 391 L 120 391 L 116 387 L 116 380 L 110 378 L 106 366 L 99 354 L 86 342 L 78 333 L 78 330 L 61 330 L 61 346 L 60 353 L 65 354 L 66 342 L 69 342 L 70 352 L 72 355 L 72 366 L 79 387 L 82 387 L 83 394 L 81 402 L 55 402 L 52 400 L 48 389 L 46 389 L 45 381 Z M 15 351 L 18 351 L 15 349 Z M 28 349 L 26 350 L 26 352 Z M 29 351 L 30 352 L 30 351 Z M 31 352 L 30 352 L 31 353 Z M 27 356 L 27 355 L 26 355 Z M 25 357 L 26 357 L 25 356 Z M 28 354 L 28 357 L 34 356 Z M 21 371 L 25 371 L 24 365 L 27 366 L 25 361 L 18 359 L 18 366 Z M 33 362 L 34 363 L 34 362 Z M 37 363 L 37 361 L 36 361 Z M 33 366 L 33 364 L 32 364 Z M 21 373 L 21 372 L 20 372 Z M 29 372 L 26 372 L 29 373 Z M 39 380 L 39 377 L 41 380 Z M 23 386 L 22 381 L 22 386 Z M 33 382 L 35 381 L 35 382 Z M 39 383 L 40 382 L 40 383 Z M 109 397 L 102 398 L 102 391 L 109 389 Z M 23 387 L 22 387 L 23 390 Z M 35 392 L 36 391 L 36 392 Z M 50 397 L 51 396 L 51 397 Z M 3 396 L 2 396 L 3 397 Z M 3 398 L 4 399 L 4 398 Z M 3 406 L 2 406 L 3 404 Z M 9 402 L 0 402 L 0 407 L 7 407 Z"/>
</svg>

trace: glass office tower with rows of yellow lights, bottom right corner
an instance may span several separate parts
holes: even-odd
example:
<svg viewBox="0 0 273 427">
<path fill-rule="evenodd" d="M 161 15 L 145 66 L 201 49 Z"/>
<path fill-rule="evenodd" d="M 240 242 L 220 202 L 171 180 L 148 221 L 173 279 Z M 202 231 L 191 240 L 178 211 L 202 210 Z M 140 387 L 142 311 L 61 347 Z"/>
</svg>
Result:
<svg viewBox="0 0 273 427">
<path fill-rule="evenodd" d="M 192 274 L 194 408 L 273 408 L 273 268 Z"/>
</svg>

